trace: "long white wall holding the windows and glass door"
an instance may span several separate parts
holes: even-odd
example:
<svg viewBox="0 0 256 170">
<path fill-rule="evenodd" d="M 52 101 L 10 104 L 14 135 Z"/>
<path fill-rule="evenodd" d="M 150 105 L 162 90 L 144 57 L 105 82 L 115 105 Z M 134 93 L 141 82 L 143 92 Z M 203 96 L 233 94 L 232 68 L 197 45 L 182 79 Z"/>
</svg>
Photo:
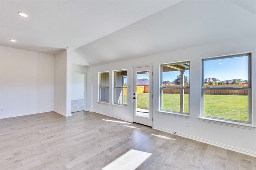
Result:
<svg viewBox="0 0 256 170">
<path fill-rule="evenodd" d="M 98 72 L 112 72 L 112 70 L 127 69 L 128 89 L 131 86 L 132 66 L 142 64 L 153 64 L 154 72 L 154 104 L 153 104 L 153 128 L 176 132 L 188 138 L 198 141 L 204 141 L 212 145 L 236 150 L 238 152 L 256 155 L 256 129 L 243 129 L 240 127 L 232 127 L 228 125 L 220 125 L 200 121 L 201 113 L 201 62 L 202 59 L 208 57 L 216 57 L 222 55 L 231 55 L 237 53 L 252 52 L 252 112 L 253 125 L 256 125 L 256 38 L 246 37 L 244 39 L 236 39 L 212 43 L 181 49 L 167 53 L 161 53 L 138 59 L 131 59 L 116 63 L 93 66 L 93 72 L 90 76 L 93 78 L 93 111 L 103 113 L 127 121 L 133 120 L 132 115 L 132 92 L 128 90 L 127 107 L 115 106 L 110 104 L 102 104 L 97 102 L 98 98 Z M 160 102 L 160 64 L 172 63 L 180 61 L 190 61 L 190 119 L 176 117 L 172 115 L 164 115 L 158 112 Z M 89 77 L 89 75 L 88 75 Z M 110 74 L 109 86 L 112 87 L 112 74 Z M 110 94 L 112 94 L 112 88 Z M 109 95 L 109 101 L 112 101 L 112 95 Z M 113 108 L 113 109 L 112 109 Z M 186 121 L 190 122 L 190 127 L 186 127 Z"/>
</svg>

